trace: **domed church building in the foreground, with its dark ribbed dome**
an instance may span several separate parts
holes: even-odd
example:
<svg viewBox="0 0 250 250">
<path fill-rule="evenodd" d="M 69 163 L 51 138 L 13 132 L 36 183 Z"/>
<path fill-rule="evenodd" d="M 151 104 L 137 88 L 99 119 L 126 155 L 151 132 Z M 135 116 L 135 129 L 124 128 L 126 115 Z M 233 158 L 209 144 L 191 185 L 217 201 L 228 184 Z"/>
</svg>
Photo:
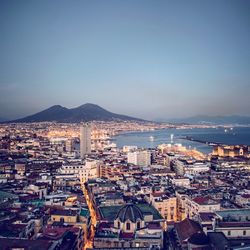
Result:
<svg viewBox="0 0 250 250">
<path fill-rule="evenodd" d="M 122 206 L 110 223 L 98 224 L 94 249 L 162 249 L 163 229 L 135 204 Z"/>
</svg>

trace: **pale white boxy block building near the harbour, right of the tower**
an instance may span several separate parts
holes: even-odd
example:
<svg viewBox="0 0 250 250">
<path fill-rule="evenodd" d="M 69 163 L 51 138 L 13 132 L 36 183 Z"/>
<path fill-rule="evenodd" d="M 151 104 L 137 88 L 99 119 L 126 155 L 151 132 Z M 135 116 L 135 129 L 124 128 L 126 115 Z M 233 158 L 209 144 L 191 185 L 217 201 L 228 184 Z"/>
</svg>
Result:
<svg viewBox="0 0 250 250">
<path fill-rule="evenodd" d="M 138 166 L 149 166 L 151 164 L 151 153 L 147 150 L 128 152 L 128 163 Z"/>
</svg>

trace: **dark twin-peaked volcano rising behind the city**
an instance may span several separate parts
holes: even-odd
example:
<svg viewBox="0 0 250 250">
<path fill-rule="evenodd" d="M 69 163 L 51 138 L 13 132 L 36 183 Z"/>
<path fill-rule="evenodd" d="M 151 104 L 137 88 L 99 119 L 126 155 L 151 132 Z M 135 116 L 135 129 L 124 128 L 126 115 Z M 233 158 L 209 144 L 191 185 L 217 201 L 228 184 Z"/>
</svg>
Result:
<svg viewBox="0 0 250 250">
<path fill-rule="evenodd" d="M 91 103 L 86 103 L 77 108 L 68 109 L 60 105 L 52 106 L 34 115 L 10 122 L 87 122 L 87 121 L 114 121 L 114 120 L 131 120 L 143 121 L 142 119 L 119 115 L 107 111 L 106 109 Z"/>
</svg>

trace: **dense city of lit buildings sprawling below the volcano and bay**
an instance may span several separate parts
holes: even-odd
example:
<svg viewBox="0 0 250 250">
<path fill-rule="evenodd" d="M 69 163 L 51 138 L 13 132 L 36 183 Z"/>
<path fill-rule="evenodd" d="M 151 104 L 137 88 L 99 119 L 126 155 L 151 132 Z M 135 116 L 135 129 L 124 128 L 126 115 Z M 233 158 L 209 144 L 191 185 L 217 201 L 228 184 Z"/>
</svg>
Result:
<svg viewBox="0 0 250 250">
<path fill-rule="evenodd" d="M 113 140 L 172 126 L 1 124 L 0 248 L 250 248 L 249 147 Z"/>
</svg>

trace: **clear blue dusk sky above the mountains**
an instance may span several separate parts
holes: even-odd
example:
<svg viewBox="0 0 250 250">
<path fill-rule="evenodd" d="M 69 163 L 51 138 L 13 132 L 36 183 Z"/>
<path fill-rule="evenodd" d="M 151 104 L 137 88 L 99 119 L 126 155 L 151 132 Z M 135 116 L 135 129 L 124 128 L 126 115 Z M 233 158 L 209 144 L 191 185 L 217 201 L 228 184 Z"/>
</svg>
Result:
<svg viewBox="0 0 250 250">
<path fill-rule="evenodd" d="M 0 116 L 95 103 L 250 115 L 250 1 L 0 0 Z"/>
</svg>

